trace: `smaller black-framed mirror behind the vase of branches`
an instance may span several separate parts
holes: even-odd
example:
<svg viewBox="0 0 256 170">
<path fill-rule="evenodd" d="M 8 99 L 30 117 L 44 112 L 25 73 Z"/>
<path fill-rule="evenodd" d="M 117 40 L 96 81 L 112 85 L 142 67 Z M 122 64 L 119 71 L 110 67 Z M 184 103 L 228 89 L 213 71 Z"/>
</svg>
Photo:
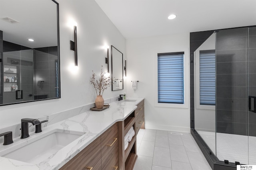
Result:
<svg viewBox="0 0 256 170">
<path fill-rule="evenodd" d="M 111 45 L 112 91 L 124 89 L 123 53 Z"/>
</svg>

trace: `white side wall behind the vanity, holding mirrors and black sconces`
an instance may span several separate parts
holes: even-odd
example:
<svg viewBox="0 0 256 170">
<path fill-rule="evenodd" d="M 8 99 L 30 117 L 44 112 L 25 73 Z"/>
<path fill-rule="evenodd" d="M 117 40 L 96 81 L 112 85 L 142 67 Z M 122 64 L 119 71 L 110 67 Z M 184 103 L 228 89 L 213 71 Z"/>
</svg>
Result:
<svg viewBox="0 0 256 170">
<path fill-rule="evenodd" d="M 20 123 L 22 118 L 38 118 L 93 103 L 96 93 L 89 79 L 92 70 L 99 74 L 101 65 L 104 66 L 104 71 L 106 71 L 106 49 L 103 46 L 113 45 L 124 54 L 124 59 L 126 58 L 125 38 L 94 0 L 57 1 L 60 7 L 61 98 L 1 106 L 0 129 Z M 74 52 L 70 51 L 70 40 L 73 41 L 74 37 L 73 27 L 70 27 L 69 23 L 73 21 L 77 23 L 78 34 L 79 69 L 77 71 L 72 70 Z M 103 98 L 112 98 L 123 94 L 124 91 L 112 92 L 111 87 L 109 87 L 104 91 Z"/>
</svg>

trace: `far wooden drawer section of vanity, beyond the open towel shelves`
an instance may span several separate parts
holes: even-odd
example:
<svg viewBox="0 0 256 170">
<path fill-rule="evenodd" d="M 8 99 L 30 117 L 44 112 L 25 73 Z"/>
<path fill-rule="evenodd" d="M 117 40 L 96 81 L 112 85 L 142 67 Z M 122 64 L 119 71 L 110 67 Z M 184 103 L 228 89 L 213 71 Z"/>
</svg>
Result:
<svg viewBox="0 0 256 170">
<path fill-rule="evenodd" d="M 138 134 L 140 129 L 145 129 L 145 113 L 144 113 L 144 100 L 137 104 L 137 109 L 135 110 L 135 133 Z"/>
</svg>

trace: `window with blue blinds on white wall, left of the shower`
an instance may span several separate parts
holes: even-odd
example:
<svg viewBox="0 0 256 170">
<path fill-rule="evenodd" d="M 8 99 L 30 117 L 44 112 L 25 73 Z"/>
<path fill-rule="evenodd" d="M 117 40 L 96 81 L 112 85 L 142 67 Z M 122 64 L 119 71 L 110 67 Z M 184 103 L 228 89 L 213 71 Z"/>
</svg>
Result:
<svg viewBox="0 0 256 170">
<path fill-rule="evenodd" d="M 158 54 L 158 103 L 184 104 L 184 52 Z"/>
</svg>

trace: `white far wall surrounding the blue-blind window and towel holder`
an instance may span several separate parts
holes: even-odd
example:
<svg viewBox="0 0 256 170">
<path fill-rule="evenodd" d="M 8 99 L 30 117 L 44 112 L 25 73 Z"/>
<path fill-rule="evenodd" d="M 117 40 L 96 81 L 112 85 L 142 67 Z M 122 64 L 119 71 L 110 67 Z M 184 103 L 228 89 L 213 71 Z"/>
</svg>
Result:
<svg viewBox="0 0 256 170">
<path fill-rule="evenodd" d="M 190 34 L 165 35 L 126 41 L 128 97 L 145 98 L 145 127 L 173 131 L 190 131 L 189 42 Z M 157 54 L 184 51 L 185 104 L 159 107 L 157 104 Z M 132 80 L 139 80 L 132 90 Z"/>
</svg>

